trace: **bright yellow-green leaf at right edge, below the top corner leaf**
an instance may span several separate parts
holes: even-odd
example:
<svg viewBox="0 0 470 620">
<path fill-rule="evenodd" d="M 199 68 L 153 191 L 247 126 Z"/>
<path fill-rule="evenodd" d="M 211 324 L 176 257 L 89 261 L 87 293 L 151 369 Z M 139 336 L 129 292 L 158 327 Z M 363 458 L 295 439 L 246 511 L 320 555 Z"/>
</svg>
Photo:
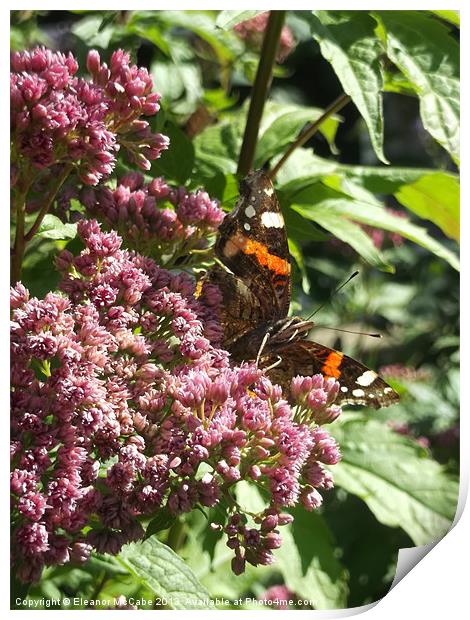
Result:
<svg viewBox="0 0 470 620">
<path fill-rule="evenodd" d="M 419 217 L 430 220 L 451 239 L 460 237 L 460 190 L 457 180 L 444 173 L 421 177 L 401 187 L 397 200 Z"/>
</svg>

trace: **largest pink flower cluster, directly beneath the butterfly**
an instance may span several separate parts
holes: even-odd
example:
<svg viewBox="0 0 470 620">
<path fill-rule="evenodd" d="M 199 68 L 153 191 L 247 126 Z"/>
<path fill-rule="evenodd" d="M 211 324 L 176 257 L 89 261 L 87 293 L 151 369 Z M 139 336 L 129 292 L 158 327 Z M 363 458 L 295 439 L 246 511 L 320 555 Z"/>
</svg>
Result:
<svg viewBox="0 0 470 620">
<path fill-rule="evenodd" d="M 119 553 L 143 518 L 229 506 L 233 570 L 269 564 L 286 507 L 321 503 L 338 447 L 335 382 L 297 378 L 290 406 L 254 364 L 218 348 L 220 293 L 195 299 L 186 274 L 121 249 L 81 221 L 85 249 L 59 255 L 62 293 L 12 289 L 13 563 L 25 582 L 47 565 Z M 308 414 L 310 411 L 310 414 Z M 300 419 L 299 419 L 300 416 Z M 236 485 L 269 497 L 247 515 Z M 216 525 L 214 524 L 216 527 Z"/>
</svg>

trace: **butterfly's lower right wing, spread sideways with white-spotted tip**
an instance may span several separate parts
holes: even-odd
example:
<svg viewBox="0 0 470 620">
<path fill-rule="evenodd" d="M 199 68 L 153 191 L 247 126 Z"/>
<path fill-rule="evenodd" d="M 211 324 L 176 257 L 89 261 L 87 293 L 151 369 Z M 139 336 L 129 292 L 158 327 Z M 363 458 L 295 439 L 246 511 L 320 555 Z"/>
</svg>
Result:
<svg viewBox="0 0 470 620">
<path fill-rule="evenodd" d="M 341 387 L 335 401 L 338 405 L 365 405 L 379 409 L 399 400 L 395 390 L 376 372 L 352 357 L 317 342 L 301 340 L 289 343 L 279 352 L 270 352 L 263 357 L 262 365 L 269 368 L 276 361 L 279 361 L 278 365 L 268 374 L 274 383 L 283 387 L 286 394 L 295 375 L 309 377 L 322 374 L 339 381 Z"/>
</svg>

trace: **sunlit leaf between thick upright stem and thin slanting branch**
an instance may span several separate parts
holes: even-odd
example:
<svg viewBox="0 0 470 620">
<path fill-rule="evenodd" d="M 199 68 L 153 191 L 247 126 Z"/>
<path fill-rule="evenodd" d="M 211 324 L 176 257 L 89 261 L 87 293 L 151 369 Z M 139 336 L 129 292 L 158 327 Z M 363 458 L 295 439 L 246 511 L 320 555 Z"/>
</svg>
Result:
<svg viewBox="0 0 470 620">
<path fill-rule="evenodd" d="M 279 103 L 268 104 L 263 112 L 256 145 L 255 168 L 260 168 L 271 157 L 283 153 L 304 125 L 316 121 L 322 114 L 323 110 L 319 108 Z M 320 128 L 320 132 L 330 144 L 333 144 L 338 124 L 338 117 L 331 117 Z"/>
</svg>

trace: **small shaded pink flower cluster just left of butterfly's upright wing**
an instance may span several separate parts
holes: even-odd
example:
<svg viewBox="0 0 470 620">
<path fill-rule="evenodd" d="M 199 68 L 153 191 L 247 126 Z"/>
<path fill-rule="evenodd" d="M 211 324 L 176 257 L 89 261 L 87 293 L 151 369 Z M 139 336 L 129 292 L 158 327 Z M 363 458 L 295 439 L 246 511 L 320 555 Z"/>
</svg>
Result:
<svg viewBox="0 0 470 620">
<path fill-rule="evenodd" d="M 117 230 L 127 247 L 166 265 L 206 248 L 224 217 L 207 192 L 174 188 L 161 177 L 145 183 L 137 172 L 121 177 L 114 190 L 85 188 L 80 200 L 90 216 Z"/>
</svg>

